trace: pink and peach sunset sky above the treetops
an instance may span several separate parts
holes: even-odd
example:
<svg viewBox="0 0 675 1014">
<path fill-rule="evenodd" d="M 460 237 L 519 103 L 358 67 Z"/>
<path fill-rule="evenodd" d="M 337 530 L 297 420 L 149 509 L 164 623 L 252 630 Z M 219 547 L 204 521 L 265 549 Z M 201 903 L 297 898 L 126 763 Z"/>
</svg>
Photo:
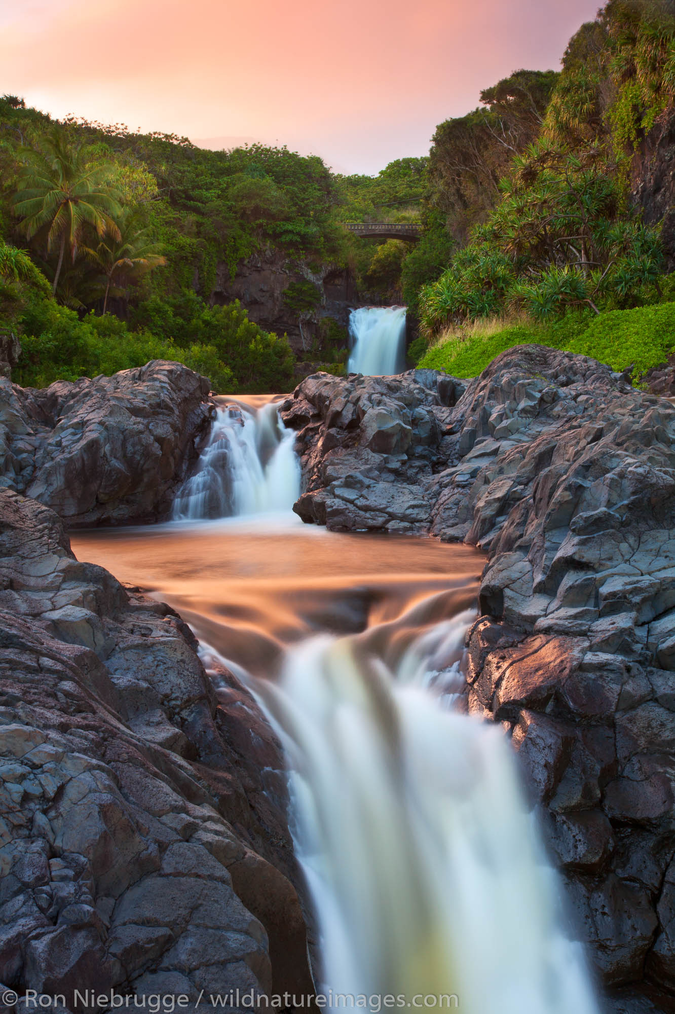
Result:
<svg viewBox="0 0 675 1014">
<path fill-rule="evenodd" d="M 520 67 L 558 69 L 597 0 L 0 3 L 0 92 L 193 140 L 256 139 L 375 173 Z"/>
</svg>

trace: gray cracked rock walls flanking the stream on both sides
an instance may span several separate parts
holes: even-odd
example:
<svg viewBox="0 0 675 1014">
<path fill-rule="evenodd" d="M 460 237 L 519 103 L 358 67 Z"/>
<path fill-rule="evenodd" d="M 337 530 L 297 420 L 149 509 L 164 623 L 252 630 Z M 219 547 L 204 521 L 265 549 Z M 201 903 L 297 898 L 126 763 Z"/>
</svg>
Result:
<svg viewBox="0 0 675 1014">
<path fill-rule="evenodd" d="M 269 729 L 231 675 L 214 698 L 177 617 L 77 563 L 49 509 L 162 516 L 212 411 L 176 364 L 0 378 L 5 985 L 189 992 L 240 965 L 269 988 L 271 957 L 275 982 L 307 982 Z M 470 381 L 316 374 L 282 412 L 305 520 L 488 553 L 466 709 L 512 737 L 611 1009 L 673 1009 L 675 408 L 524 346 Z"/>
</svg>

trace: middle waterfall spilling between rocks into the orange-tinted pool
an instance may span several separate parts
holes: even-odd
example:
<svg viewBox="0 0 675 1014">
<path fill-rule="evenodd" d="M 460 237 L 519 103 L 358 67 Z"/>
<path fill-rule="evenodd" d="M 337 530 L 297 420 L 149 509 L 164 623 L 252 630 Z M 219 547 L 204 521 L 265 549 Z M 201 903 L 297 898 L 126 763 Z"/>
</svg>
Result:
<svg viewBox="0 0 675 1014">
<path fill-rule="evenodd" d="M 228 401 L 173 504 L 174 520 L 290 511 L 300 495 L 295 433 L 274 402 Z"/>
</svg>

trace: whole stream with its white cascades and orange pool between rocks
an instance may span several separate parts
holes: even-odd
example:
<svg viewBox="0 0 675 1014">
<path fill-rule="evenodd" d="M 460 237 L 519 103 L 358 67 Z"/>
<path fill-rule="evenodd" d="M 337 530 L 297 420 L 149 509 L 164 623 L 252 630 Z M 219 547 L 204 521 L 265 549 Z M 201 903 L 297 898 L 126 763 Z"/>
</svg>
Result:
<svg viewBox="0 0 675 1014">
<path fill-rule="evenodd" d="M 398 350 L 397 311 L 381 312 L 361 335 Z M 174 520 L 78 531 L 73 551 L 177 609 L 216 690 L 217 662 L 278 732 L 320 992 L 595 1014 L 512 749 L 457 707 L 482 556 L 303 525 L 299 489 L 275 400 L 220 399 Z"/>
</svg>

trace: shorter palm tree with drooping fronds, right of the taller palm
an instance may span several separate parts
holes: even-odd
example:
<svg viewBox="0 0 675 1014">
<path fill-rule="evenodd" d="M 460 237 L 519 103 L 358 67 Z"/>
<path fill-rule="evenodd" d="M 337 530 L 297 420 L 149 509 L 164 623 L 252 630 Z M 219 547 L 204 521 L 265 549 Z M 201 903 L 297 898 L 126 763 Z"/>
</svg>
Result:
<svg viewBox="0 0 675 1014">
<path fill-rule="evenodd" d="M 139 221 L 138 214 L 125 208 L 118 217 L 118 234 L 104 235 L 97 246 L 84 247 L 85 256 L 96 265 L 105 279 L 103 313 L 107 310 L 110 290 L 122 295 L 125 286 L 134 276 L 166 264 L 157 242 L 148 228 Z"/>
</svg>

